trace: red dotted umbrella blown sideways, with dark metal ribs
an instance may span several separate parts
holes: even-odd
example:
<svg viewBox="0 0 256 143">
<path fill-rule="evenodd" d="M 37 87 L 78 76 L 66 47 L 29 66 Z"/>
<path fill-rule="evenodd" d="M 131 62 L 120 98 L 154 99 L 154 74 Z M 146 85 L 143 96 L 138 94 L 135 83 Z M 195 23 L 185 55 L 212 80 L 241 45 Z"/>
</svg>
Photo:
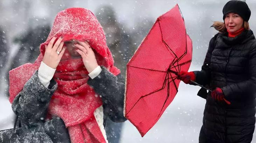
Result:
<svg viewBox="0 0 256 143">
<path fill-rule="evenodd" d="M 157 18 L 126 70 L 125 117 L 143 137 L 178 92 L 177 73 L 188 71 L 192 41 L 179 6 Z"/>
</svg>

